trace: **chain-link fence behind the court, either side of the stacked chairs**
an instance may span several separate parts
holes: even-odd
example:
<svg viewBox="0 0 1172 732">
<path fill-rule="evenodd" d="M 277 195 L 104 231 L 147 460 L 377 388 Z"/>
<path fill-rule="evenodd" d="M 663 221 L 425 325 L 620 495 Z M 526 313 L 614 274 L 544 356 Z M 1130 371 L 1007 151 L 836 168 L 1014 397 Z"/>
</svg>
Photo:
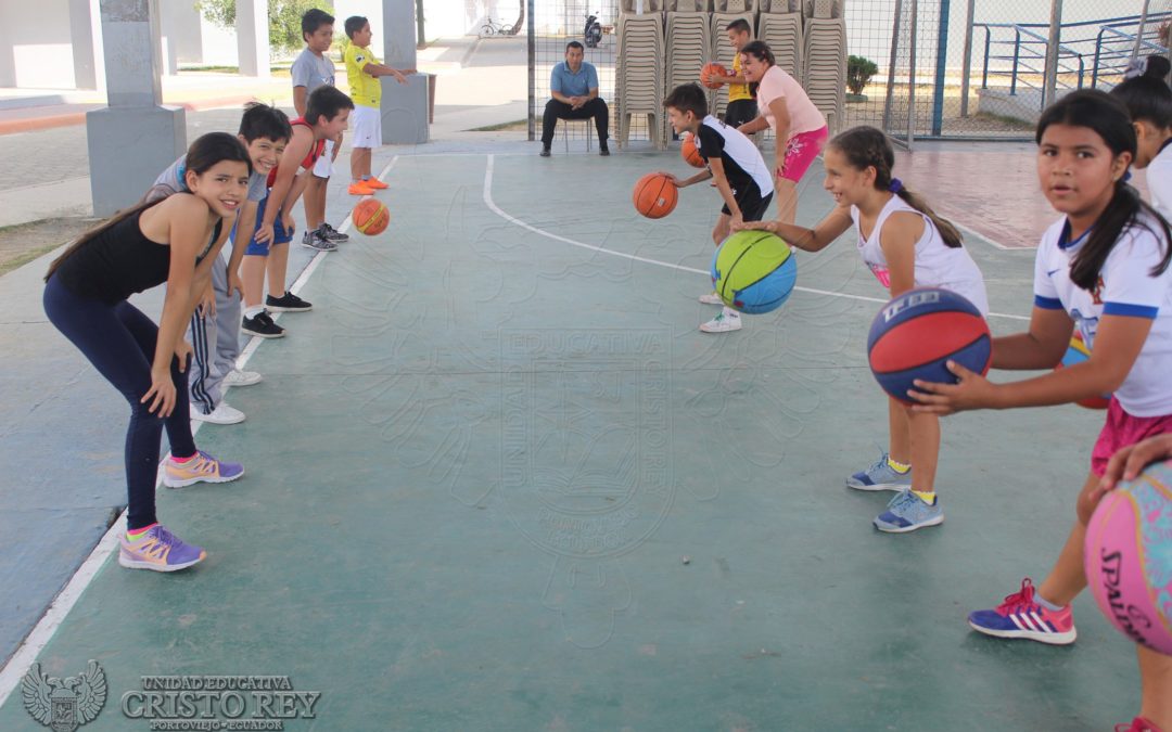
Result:
<svg viewBox="0 0 1172 732">
<path fill-rule="evenodd" d="M 613 98 L 619 12 L 616 0 L 527 1 L 530 118 L 539 132 L 550 70 L 566 42 L 582 40 L 587 12 L 605 33 L 586 60 L 598 68 L 601 96 Z M 847 78 L 856 77 L 845 126 L 879 126 L 907 145 L 1028 139 L 1048 101 L 1110 89 L 1137 54 L 1168 54 L 1172 0 L 845 0 L 845 18 Z M 646 128 L 632 131 L 632 139 L 647 136 Z"/>
</svg>

